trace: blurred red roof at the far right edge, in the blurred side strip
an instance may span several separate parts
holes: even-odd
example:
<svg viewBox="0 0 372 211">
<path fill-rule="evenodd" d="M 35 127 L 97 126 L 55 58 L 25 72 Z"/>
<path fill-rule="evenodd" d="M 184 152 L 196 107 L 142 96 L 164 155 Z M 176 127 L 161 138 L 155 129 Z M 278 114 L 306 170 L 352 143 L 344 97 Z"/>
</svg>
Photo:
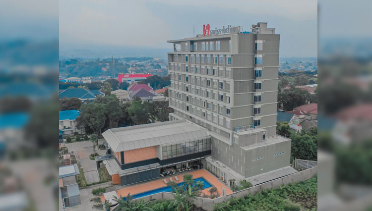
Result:
<svg viewBox="0 0 372 211">
<path fill-rule="evenodd" d="M 342 120 L 366 119 L 372 120 L 372 104 L 360 104 L 342 109 L 336 114 Z"/>
</svg>

